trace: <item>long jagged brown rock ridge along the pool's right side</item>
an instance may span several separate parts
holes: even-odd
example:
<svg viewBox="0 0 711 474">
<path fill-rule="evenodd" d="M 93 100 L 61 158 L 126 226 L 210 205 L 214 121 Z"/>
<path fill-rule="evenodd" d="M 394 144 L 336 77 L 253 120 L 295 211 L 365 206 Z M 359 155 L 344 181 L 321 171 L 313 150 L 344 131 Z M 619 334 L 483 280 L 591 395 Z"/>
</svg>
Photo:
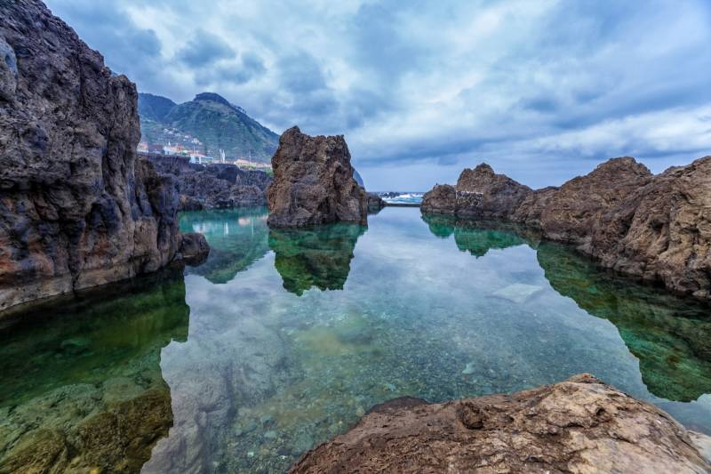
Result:
<svg viewBox="0 0 711 474">
<path fill-rule="evenodd" d="M 711 157 L 658 175 L 634 158 L 614 158 L 559 189 L 536 191 L 486 165 L 477 170 L 484 166 L 487 173 L 462 173 L 466 187 L 429 191 L 422 211 L 520 222 L 606 268 L 711 297 Z"/>
</svg>

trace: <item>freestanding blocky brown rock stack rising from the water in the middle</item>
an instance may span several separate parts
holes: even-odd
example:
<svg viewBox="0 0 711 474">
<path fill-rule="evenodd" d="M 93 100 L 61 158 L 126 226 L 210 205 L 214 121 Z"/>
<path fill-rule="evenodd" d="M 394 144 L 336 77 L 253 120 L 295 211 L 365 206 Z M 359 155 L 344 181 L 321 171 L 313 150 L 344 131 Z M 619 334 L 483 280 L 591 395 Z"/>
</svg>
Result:
<svg viewBox="0 0 711 474">
<path fill-rule="evenodd" d="M 279 139 L 272 168 L 274 181 L 267 189 L 270 226 L 366 223 L 368 199 L 353 178 L 342 135 L 310 137 L 292 127 Z"/>
</svg>

